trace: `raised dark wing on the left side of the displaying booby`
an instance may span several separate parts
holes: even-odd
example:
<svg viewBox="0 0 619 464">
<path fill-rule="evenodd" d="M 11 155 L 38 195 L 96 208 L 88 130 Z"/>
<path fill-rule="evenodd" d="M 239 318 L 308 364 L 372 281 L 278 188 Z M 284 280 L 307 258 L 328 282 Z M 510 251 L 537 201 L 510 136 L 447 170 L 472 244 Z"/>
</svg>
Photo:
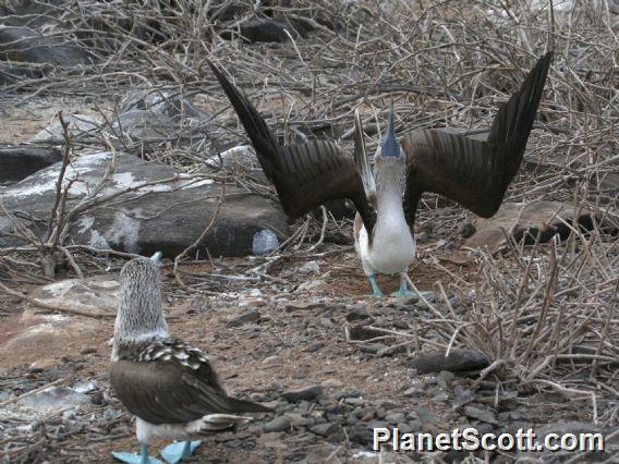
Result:
<svg viewBox="0 0 619 464">
<path fill-rule="evenodd" d="M 286 213 L 298 218 L 328 200 L 350 199 L 366 230 L 376 215 L 353 157 L 328 141 L 281 146 L 265 120 L 213 63 L 210 68 L 245 127 L 267 179 L 275 185 Z"/>
</svg>

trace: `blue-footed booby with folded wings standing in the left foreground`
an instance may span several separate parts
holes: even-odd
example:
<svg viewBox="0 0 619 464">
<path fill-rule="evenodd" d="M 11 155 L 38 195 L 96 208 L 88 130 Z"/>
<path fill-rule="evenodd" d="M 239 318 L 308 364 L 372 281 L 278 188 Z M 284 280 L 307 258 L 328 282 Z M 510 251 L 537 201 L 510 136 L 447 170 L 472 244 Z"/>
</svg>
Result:
<svg viewBox="0 0 619 464">
<path fill-rule="evenodd" d="M 161 312 L 159 259 L 135 258 L 120 273 L 121 298 L 109 367 L 119 400 L 136 417 L 141 452 L 112 452 L 125 463 L 154 464 L 148 455 L 154 436 L 184 440 L 161 451 L 168 463 L 193 453 L 196 434 L 215 434 L 251 417 L 238 413 L 267 413 L 270 407 L 228 396 L 208 357 L 199 349 L 170 337 Z"/>
</svg>

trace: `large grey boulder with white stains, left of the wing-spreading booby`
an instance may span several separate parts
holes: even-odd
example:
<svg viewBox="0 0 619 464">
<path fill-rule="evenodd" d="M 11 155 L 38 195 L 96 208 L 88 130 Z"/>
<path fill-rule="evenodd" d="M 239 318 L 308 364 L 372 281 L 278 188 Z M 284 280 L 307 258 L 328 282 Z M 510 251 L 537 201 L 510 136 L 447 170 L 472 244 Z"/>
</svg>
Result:
<svg viewBox="0 0 619 464">
<path fill-rule="evenodd" d="M 107 151 L 82 156 L 71 163 L 66 178 L 74 179 L 70 190 L 70 211 L 100 181 L 111 159 Z M 19 210 L 21 218 L 33 218 L 26 225 L 39 236 L 56 198 L 60 163 L 44 169 L 24 181 L 0 188 L 0 202 L 7 210 Z M 146 162 L 125 154 L 99 197 L 112 195 L 142 182 L 170 179 L 174 171 L 165 164 Z M 173 257 L 193 244 L 210 223 L 222 186 L 208 179 L 189 179 L 182 174 L 174 182 L 126 192 L 113 200 L 82 212 L 73 223 L 72 243 L 112 248 L 141 255 L 161 251 Z M 36 220 L 34 218 L 37 218 Z M 0 244 L 22 244 L 8 235 L 14 231 L 12 218 L 0 213 Z M 24 219 L 22 219 L 24 221 Z M 288 220 L 279 205 L 245 190 L 226 186 L 226 198 L 210 227 L 205 247 L 211 256 L 244 256 L 251 253 L 254 235 L 272 230 L 278 236 L 288 233 Z M 195 254 L 193 255 L 195 256 Z"/>
</svg>

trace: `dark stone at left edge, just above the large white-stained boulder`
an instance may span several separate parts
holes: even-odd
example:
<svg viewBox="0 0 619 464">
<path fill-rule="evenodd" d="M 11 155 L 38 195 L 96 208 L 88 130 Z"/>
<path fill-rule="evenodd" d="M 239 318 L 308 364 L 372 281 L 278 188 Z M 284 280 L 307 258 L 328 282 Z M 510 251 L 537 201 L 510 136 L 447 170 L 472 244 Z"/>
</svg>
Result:
<svg viewBox="0 0 619 464">
<path fill-rule="evenodd" d="M 62 151 L 57 147 L 0 147 L 0 183 L 21 181 L 60 160 Z"/>
</svg>

